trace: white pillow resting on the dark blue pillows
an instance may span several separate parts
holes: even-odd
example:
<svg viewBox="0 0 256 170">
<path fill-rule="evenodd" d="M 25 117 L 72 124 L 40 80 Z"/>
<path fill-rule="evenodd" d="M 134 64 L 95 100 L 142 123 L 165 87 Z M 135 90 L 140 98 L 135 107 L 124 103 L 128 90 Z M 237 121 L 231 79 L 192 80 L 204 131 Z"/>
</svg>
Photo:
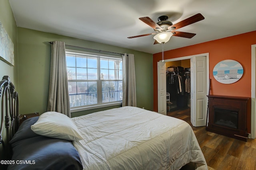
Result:
<svg viewBox="0 0 256 170">
<path fill-rule="evenodd" d="M 40 115 L 38 121 L 31 125 L 31 130 L 38 135 L 68 141 L 83 139 L 73 121 L 68 116 L 56 111 L 48 111 Z"/>
</svg>

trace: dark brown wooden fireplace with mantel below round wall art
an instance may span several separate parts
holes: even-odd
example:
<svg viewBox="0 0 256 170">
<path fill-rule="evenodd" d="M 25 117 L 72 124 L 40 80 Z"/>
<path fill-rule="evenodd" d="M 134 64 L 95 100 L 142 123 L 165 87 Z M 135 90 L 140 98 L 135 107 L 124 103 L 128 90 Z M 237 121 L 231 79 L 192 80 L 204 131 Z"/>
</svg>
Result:
<svg viewBox="0 0 256 170">
<path fill-rule="evenodd" d="M 247 141 L 247 104 L 249 98 L 246 97 L 235 97 L 235 96 L 219 96 L 219 95 L 208 95 L 208 125 L 206 126 L 206 131 L 213 133 L 218 133 L 227 137 L 232 137 L 234 139 L 239 139 L 242 141 Z M 214 113 L 218 110 L 218 115 L 230 113 L 237 114 L 237 126 L 228 127 L 220 123 L 216 123 L 216 115 Z M 223 110 L 223 112 L 221 112 Z"/>
</svg>

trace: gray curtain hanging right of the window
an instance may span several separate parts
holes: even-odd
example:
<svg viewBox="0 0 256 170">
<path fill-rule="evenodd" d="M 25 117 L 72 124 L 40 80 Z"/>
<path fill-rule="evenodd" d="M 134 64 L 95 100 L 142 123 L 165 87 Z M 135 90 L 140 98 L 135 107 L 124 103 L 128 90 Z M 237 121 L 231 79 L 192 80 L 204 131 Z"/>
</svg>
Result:
<svg viewBox="0 0 256 170">
<path fill-rule="evenodd" d="M 122 106 L 137 106 L 134 55 L 122 56 L 123 66 L 123 100 Z"/>
</svg>

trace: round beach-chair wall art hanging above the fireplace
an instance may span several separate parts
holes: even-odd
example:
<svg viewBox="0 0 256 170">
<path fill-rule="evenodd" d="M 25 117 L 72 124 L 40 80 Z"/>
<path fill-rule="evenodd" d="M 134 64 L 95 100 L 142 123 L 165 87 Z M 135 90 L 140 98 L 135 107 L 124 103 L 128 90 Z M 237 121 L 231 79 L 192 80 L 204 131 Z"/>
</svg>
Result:
<svg viewBox="0 0 256 170">
<path fill-rule="evenodd" d="M 214 78 L 223 84 L 237 82 L 243 74 L 243 66 L 234 60 L 223 60 L 213 68 Z"/>
</svg>

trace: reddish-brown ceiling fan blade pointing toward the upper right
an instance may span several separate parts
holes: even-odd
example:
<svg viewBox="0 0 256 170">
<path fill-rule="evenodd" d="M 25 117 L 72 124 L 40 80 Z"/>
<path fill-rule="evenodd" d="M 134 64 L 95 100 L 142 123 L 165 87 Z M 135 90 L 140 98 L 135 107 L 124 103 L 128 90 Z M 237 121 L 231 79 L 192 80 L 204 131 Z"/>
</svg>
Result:
<svg viewBox="0 0 256 170">
<path fill-rule="evenodd" d="M 190 25 L 192 23 L 201 21 L 201 20 L 204 20 L 204 16 L 202 16 L 202 14 L 198 13 L 198 14 L 191 16 L 185 20 L 182 20 L 174 25 L 171 25 L 170 27 L 168 27 L 168 29 L 171 29 L 171 30 L 179 29 L 179 28 L 185 27 L 187 25 Z"/>
</svg>

